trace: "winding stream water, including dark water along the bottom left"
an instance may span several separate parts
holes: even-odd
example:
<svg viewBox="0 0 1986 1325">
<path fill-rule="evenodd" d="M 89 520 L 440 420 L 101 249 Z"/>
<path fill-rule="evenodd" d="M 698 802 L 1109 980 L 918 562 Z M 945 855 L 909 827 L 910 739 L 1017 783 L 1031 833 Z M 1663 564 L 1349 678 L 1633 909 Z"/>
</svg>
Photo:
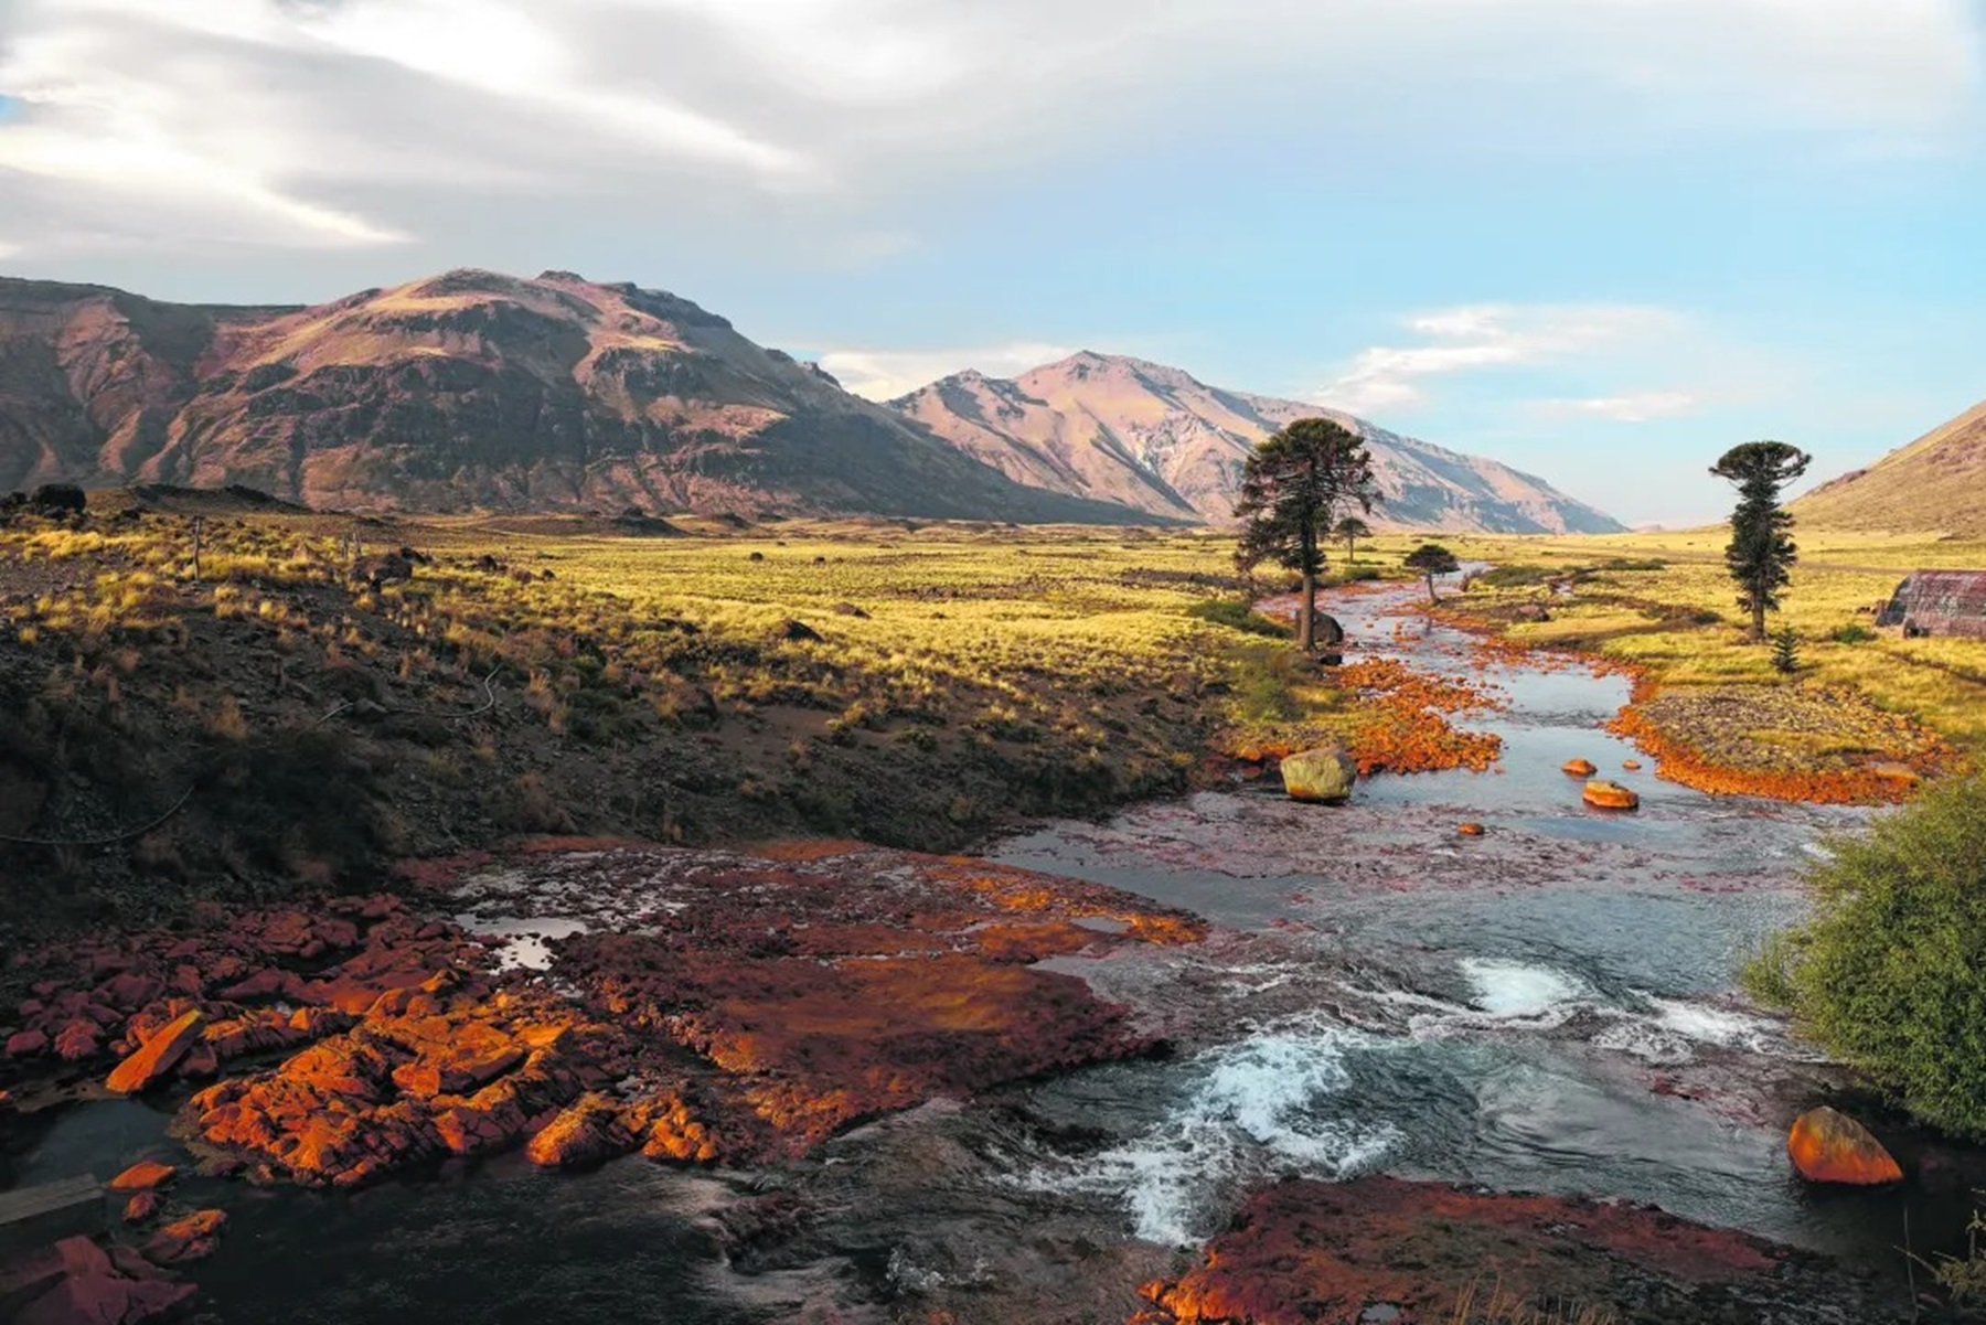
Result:
<svg viewBox="0 0 1986 1325">
<path fill-rule="evenodd" d="M 1760 936 L 1797 918 L 1801 860 L 1863 812 L 1621 771 L 1638 755 L 1599 727 L 1625 679 L 1482 665 L 1418 602 L 1386 590 L 1333 610 L 1360 656 L 1491 683 L 1505 707 L 1464 721 L 1503 737 L 1499 771 L 1380 777 L 1341 809 L 1237 785 L 991 852 L 1219 926 L 1196 948 L 1055 961 L 1142 1009 L 1178 1055 L 830 1142 L 779 1178 L 820 1200 L 824 1232 L 765 1263 L 731 1265 L 705 1218 L 763 1186 L 755 1174 L 630 1158 L 558 1176 L 510 1156 L 355 1196 L 191 1178 L 189 1196 L 211 1188 L 230 1210 L 195 1275 L 209 1307 L 226 1321 L 896 1319 L 822 1303 L 971 1275 L 1031 1279 L 1061 1307 L 1096 1277 L 1066 1248 L 1148 1271 L 1279 1174 L 1632 1198 L 1879 1273 L 1901 1273 L 1907 1206 L 1918 1230 L 1962 1228 L 1962 1190 L 1793 1180 L 1785 1122 L 1831 1075 L 1732 995 Z M 1642 809 L 1583 807 L 1559 771 L 1573 757 Z M 1486 836 L 1458 836 L 1464 820 Z M 10 1178 L 113 1172 L 165 1122 L 139 1103 L 60 1110 Z"/>
</svg>

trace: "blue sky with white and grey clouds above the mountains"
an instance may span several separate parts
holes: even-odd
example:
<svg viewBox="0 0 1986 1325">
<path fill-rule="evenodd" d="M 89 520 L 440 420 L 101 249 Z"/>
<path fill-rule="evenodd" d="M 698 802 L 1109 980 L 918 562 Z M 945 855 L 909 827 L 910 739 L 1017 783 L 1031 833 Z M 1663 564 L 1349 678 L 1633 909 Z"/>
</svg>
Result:
<svg viewBox="0 0 1986 1325">
<path fill-rule="evenodd" d="M 1978 0 L 0 0 L 0 274 L 665 288 L 888 397 L 1134 354 L 1720 515 L 1986 395 Z"/>
</svg>

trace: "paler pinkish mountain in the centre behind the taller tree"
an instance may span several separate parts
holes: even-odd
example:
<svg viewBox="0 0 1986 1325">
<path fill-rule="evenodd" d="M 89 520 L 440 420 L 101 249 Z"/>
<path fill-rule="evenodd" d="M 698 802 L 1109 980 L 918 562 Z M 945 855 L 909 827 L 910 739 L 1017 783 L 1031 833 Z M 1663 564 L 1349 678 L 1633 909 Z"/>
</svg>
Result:
<svg viewBox="0 0 1986 1325">
<path fill-rule="evenodd" d="M 1619 532 L 1543 479 L 1458 455 L 1337 409 L 1225 391 L 1164 364 L 1076 354 L 1013 379 L 963 371 L 890 401 L 1015 483 L 1227 520 L 1241 463 L 1291 419 L 1331 417 L 1366 439 L 1384 505 L 1372 522 L 1484 532 Z"/>
</svg>

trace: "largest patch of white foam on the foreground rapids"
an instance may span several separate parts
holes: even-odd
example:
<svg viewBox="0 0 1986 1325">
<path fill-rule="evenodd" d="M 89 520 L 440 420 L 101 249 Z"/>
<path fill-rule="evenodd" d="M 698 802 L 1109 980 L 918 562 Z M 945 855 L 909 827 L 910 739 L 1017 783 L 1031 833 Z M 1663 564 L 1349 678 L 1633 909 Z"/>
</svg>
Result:
<svg viewBox="0 0 1986 1325">
<path fill-rule="evenodd" d="M 1196 1061 L 1188 1099 L 1144 1136 L 1088 1156 L 1074 1170 L 1021 1174 L 1029 1190 L 1116 1196 L 1146 1242 L 1184 1246 L 1211 1230 L 1202 1222 L 1223 1190 L 1245 1176 L 1297 1168 L 1348 1178 L 1398 1138 L 1388 1122 L 1319 1116 L 1319 1104 L 1350 1085 L 1348 1049 L 1388 1041 L 1335 1025 L 1287 1023 Z"/>
</svg>

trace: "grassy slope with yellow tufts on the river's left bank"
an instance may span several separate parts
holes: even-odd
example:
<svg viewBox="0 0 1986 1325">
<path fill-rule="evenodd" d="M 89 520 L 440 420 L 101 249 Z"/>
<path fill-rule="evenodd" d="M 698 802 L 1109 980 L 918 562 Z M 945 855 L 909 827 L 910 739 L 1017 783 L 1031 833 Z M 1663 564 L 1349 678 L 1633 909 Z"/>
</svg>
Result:
<svg viewBox="0 0 1986 1325">
<path fill-rule="evenodd" d="M 0 942 L 522 834 L 957 850 L 1206 781 L 1225 540 L 93 509 L 0 528 Z M 195 546 L 199 564 L 195 566 Z"/>
</svg>

